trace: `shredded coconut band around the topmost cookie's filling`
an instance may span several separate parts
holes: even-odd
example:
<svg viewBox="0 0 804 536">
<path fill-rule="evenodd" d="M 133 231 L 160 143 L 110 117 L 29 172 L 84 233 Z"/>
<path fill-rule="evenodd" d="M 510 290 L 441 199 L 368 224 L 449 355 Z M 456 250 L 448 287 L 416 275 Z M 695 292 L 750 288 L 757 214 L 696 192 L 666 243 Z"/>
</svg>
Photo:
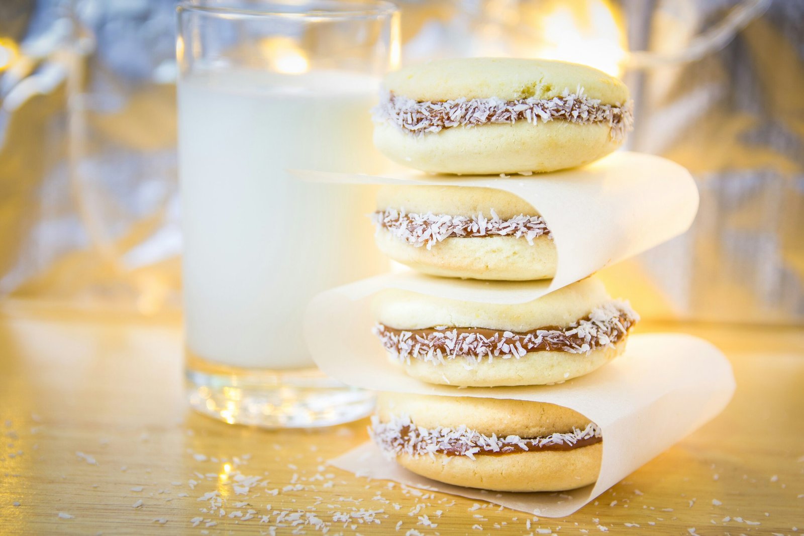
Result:
<svg viewBox="0 0 804 536">
<path fill-rule="evenodd" d="M 419 102 L 388 93 L 373 109 L 377 122 L 388 121 L 404 132 L 423 135 L 436 133 L 453 126 L 474 127 L 486 123 L 527 121 L 538 125 L 553 120 L 570 121 L 580 125 L 604 123 L 614 141 L 622 141 L 634 125 L 634 102 L 601 104 L 589 98 L 584 88 L 570 93 L 568 89 L 552 99 L 502 100 L 455 99 Z"/>
</svg>

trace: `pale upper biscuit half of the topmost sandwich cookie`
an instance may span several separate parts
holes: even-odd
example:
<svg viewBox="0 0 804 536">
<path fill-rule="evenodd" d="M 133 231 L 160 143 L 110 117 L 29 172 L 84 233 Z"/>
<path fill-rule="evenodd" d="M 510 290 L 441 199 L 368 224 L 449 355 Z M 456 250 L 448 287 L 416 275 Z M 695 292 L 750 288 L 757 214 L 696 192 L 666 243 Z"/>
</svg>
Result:
<svg viewBox="0 0 804 536">
<path fill-rule="evenodd" d="M 601 104 L 623 104 L 629 99 L 626 84 L 613 76 L 586 65 L 550 59 L 435 59 L 389 73 L 384 88 L 420 102 L 552 99 L 578 88 Z"/>
</svg>

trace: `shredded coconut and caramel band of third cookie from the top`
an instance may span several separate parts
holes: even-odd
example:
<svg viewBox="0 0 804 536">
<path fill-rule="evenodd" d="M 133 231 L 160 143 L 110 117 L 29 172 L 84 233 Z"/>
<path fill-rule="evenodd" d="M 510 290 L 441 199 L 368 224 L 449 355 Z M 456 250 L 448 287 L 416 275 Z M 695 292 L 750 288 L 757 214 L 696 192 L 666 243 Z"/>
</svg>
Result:
<svg viewBox="0 0 804 536">
<path fill-rule="evenodd" d="M 409 363 L 410 358 L 416 358 L 445 363 L 447 359 L 462 357 L 478 363 L 484 358 L 489 361 L 521 358 L 528 352 L 543 350 L 589 354 L 597 348 L 614 346 L 638 320 L 639 315 L 627 301 L 613 300 L 593 309 L 589 317 L 560 329 L 535 329 L 527 333 L 500 330 L 486 336 L 471 331 L 471 328 L 438 326 L 422 334 L 388 329 L 388 326 L 378 323 L 372 332 L 385 350 L 400 362 Z"/>
</svg>

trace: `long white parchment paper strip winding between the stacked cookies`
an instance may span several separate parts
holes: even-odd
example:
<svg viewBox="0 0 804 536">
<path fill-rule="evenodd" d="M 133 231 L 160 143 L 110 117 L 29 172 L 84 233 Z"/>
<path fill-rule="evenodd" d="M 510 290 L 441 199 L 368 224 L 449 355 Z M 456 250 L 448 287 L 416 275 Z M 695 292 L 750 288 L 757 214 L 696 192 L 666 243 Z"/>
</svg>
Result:
<svg viewBox="0 0 804 536">
<path fill-rule="evenodd" d="M 524 198 L 542 215 L 558 251 L 558 268 L 552 280 L 490 284 L 407 271 L 319 294 L 308 308 L 305 333 L 310 354 L 323 372 L 344 383 L 378 391 L 556 403 L 592 419 L 604 436 L 597 483 L 570 493 L 483 493 L 442 485 L 388 462 L 371 445 L 333 460 L 336 466 L 561 517 L 712 419 L 731 398 L 734 380 L 728 361 L 714 346 L 686 335 L 633 337 L 626 355 L 593 374 L 556 386 L 459 389 L 410 378 L 386 358 L 370 330 L 374 324 L 371 294 L 381 288 L 407 288 L 464 301 L 521 303 L 681 234 L 691 225 L 698 207 L 695 183 L 683 167 L 663 158 L 620 152 L 582 169 L 538 177 L 444 177 L 401 168 L 389 168 L 382 176 L 295 173 L 311 181 L 507 190 Z"/>
</svg>

